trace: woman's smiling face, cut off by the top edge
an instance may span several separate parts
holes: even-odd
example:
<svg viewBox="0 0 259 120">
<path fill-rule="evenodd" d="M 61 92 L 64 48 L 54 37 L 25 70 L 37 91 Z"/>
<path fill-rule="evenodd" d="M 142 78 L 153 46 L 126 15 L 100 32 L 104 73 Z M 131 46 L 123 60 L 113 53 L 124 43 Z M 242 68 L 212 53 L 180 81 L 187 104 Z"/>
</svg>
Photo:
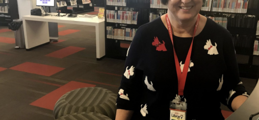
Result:
<svg viewBox="0 0 259 120">
<path fill-rule="evenodd" d="M 169 0 L 168 9 L 180 20 L 194 18 L 200 11 L 202 0 Z"/>
</svg>

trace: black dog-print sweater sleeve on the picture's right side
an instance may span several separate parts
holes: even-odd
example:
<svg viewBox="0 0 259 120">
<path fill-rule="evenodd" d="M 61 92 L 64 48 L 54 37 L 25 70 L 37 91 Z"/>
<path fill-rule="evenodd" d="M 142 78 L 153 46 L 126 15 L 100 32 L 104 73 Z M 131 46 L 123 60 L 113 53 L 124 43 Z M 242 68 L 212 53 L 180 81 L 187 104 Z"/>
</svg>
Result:
<svg viewBox="0 0 259 120">
<path fill-rule="evenodd" d="M 229 36 L 223 42 L 223 54 L 226 65 L 226 72 L 223 74 L 223 89 L 221 90 L 221 103 L 226 105 L 231 111 L 232 101 L 239 95 L 249 97 L 245 87 L 242 85 L 239 77 L 239 68 L 236 58 L 236 52 L 232 37 Z"/>
</svg>

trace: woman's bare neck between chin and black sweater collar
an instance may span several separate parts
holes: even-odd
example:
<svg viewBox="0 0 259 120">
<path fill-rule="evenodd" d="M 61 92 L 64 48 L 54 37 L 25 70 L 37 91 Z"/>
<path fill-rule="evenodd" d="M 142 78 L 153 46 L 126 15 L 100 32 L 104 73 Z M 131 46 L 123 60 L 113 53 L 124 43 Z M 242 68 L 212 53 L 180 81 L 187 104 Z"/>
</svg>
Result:
<svg viewBox="0 0 259 120">
<path fill-rule="evenodd" d="M 171 23 L 173 34 L 178 37 L 193 37 L 197 17 L 198 15 L 190 20 L 180 20 L 168 10 L 168 18 Z"/>
</svg>

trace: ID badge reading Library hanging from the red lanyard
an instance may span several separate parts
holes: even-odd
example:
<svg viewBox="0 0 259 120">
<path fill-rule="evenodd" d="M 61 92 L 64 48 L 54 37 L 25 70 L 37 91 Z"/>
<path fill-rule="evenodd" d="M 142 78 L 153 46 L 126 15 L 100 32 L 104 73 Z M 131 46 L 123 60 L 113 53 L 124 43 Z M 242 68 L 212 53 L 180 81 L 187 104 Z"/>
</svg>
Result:
<svg viewBox="0 0 259 120">
<path fill-rule="evenodd" d="M 176 95 L 170 105 L 170 120 L 186 120 L 187 103 L 181 101 L 181 98 Z"/>
</svg>

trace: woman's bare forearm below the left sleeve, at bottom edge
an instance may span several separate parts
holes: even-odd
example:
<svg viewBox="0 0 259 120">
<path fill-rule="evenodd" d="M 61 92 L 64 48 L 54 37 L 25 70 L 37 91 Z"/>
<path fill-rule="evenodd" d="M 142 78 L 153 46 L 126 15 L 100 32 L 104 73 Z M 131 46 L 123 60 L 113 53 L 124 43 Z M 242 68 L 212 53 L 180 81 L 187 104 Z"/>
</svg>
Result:
<svg viewBox="0 0 259 120">
<path fill-rule="evenodd" d="M 130 120 L 132 118 L 134 111 L 117 109 L 115 120 Z"/>
</svg>

